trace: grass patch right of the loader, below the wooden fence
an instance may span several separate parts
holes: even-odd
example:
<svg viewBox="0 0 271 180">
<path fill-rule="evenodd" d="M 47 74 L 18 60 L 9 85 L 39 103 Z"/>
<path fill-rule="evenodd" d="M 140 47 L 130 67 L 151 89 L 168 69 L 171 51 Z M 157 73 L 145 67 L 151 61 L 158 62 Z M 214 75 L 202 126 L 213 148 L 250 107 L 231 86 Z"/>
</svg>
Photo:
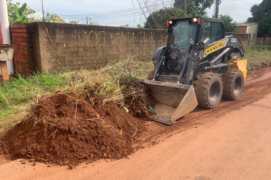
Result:
<svg viewBox="0 0 271 180">
<path fill-rule="evenodd" d="M 271 65 L 271 46 L 250 46 L 245 54 L 249 73 Z"/>
</svg>

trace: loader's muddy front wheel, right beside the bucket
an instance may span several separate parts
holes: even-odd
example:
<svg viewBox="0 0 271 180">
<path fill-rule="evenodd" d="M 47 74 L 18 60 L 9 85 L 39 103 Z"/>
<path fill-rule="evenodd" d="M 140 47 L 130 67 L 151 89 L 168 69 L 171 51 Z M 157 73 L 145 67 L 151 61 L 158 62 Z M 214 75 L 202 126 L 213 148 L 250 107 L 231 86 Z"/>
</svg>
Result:
<svg viewBox="0 0 271 180">
<path fill-rule="evenodd" d="M 223 83 L 219 74 L 203 73 L 195 82 L 195 93 L 198 105 L 212 109 L 220 102 L 223 92 Z"/>
</svg>

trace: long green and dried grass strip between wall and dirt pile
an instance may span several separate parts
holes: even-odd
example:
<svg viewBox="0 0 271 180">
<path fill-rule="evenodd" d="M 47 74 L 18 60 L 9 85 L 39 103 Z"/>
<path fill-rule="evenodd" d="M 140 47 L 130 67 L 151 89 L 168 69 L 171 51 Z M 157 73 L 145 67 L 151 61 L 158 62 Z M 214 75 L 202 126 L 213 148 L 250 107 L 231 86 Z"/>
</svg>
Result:
<svg viewBox="0 0 271 180">
<path fill-rule="evenodd" d="M 146 78 L 152 68 L 152 62 L 126 59 L 111 62 L 98 70 L 34 73 L 28 78 L 17 74 L 17 77 L 11 77 L 11 82 L 0 85 L 0 128 L 8 129 L 39 99 L 56 91 L 69 89 L 79 95 L 95 95 L 104 102 L 115 101 L 123 106 L 121 82 Z"/>
</svg>

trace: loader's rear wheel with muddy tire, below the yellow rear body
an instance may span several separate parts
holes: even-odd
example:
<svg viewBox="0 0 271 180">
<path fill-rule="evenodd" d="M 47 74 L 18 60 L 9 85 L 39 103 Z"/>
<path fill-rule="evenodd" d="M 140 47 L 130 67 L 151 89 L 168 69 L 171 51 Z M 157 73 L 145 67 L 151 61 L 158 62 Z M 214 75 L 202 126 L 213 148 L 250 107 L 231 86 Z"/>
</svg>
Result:
<svg viewBox="0 0 271 180">
<path fill-rule="evenodd" d="M 223 95 L 222 97 L 229 100 L 236 100 L 243 92 L 244 75 L 239 69 L 226 70 L 222 75 Z"/>
</svg>

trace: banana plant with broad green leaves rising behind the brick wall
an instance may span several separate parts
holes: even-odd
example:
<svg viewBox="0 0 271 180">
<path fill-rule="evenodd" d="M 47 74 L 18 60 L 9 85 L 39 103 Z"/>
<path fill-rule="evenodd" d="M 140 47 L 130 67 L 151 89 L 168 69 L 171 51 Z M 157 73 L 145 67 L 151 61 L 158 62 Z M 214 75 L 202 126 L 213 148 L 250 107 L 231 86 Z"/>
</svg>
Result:
<svg viewBox="0 0 271 180">
<path fill-rule="evenodd" d="M 24 3 L 23 6 L 18 10 L 16 4 L 14 4 L 14 13 L 8 15 L 9 24 L 23 24 L 28 23 L 28 20 L 23 16 L 23 11 L 25 10 L 27 4 Z"/>
</svg>

